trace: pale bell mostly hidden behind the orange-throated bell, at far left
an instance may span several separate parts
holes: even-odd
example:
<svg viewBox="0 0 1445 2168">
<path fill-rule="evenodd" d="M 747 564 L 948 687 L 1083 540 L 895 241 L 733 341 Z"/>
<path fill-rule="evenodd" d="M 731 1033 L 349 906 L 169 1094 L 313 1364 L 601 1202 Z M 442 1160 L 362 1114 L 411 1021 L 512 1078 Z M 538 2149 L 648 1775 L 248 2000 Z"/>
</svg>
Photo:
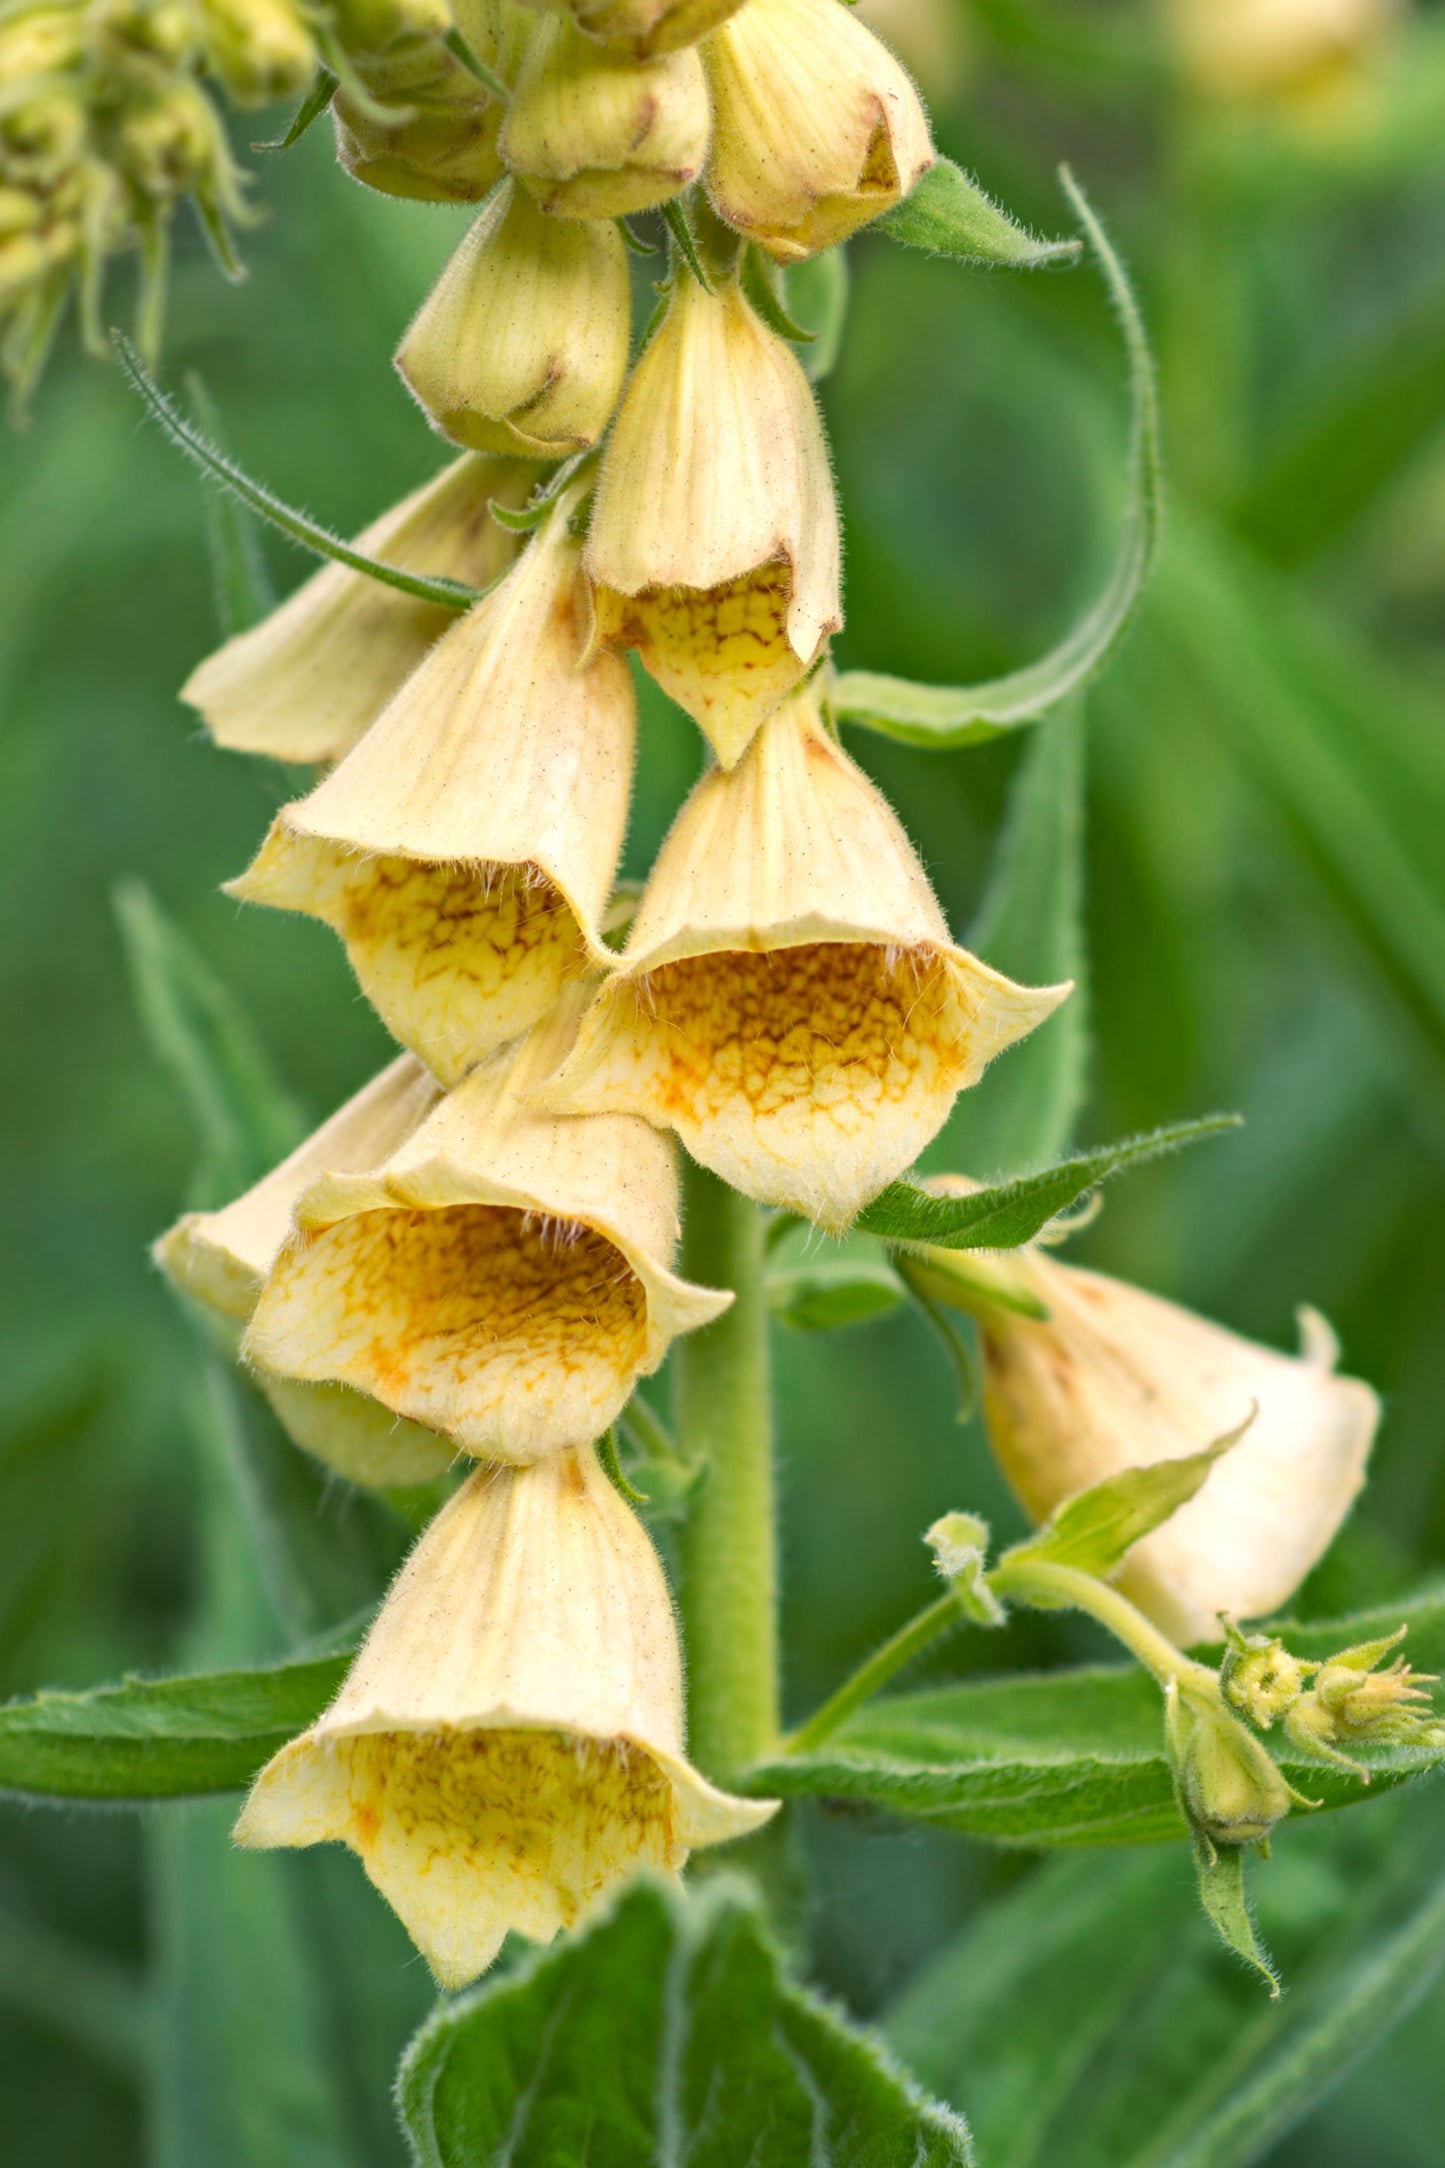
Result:
<svg viewBox="0 0 1445 2168">
<path fill-rule="evenodd" d="M 427 1119 L 440 1088 L 414 1054 L 399 1056 L 288 1160 L 221 1212 L 186 1212 L 154 1249 L 156 1264 L 199 1303 L 230 1353 L 256 1309 L 297 1197 L 323 1173 L 375 1166 Z M 435 1431 L 401 1420 L 351 1385 L 303 1383 L 256 1370 L 282 1427 L 305 1453 L 351 1483 L 429 1483 L 455 1448 Z"/>
</svg>

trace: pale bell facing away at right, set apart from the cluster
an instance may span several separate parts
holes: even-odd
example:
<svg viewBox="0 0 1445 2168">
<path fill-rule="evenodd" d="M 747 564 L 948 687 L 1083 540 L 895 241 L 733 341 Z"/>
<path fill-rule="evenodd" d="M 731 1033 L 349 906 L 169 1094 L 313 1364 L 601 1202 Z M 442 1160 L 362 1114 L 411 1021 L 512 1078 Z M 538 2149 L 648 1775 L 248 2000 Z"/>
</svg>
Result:
<svg viewBox="0 0 1445 2168">
<path fill-rule="evenodd" d="M 979 1260 L 984 1262 L 984 1260 Z M 971 1296 L 984 1416 L 1036 1520 L 1124 1468 L 1248 1431 L 1189 1505 L 1129 1552 L 1120 1587 L 1176 1641 L 1213 1641 L 1220 1613 L 1265 1617 L 1326 1552 L 1365 1481 L 1380 1420 L 1369 1385 L 1335 1377 L 1335 1338 L 1302 1312 L 1304 1351 L 1276 1355 L 1176 1303 L 1038 1249 L 999 1260 L 1049 1318 Z"/>
</svg>

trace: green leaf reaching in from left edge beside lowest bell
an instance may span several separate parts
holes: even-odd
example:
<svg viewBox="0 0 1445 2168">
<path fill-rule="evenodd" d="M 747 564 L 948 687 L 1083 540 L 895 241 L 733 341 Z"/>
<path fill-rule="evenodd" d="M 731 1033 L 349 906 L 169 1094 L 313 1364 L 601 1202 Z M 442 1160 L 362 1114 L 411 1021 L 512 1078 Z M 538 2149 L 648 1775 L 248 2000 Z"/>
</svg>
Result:
<svg viewBox="0 0 1445 2168">
<path fill-rule="evenodd" d="M 240 1791 L 340 1687 L 349 1654 L 191 1678 L 121 1678 L 0 1706 L 0 1791 L 186 1799 Z"/>
</svg>

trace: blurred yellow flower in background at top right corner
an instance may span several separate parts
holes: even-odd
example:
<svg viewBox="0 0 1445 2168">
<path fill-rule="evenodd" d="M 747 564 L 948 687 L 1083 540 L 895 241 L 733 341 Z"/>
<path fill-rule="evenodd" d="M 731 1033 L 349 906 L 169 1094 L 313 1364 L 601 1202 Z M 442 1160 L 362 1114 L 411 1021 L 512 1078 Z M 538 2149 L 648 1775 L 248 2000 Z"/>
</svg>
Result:
<svg viewBox="0 0 1445 2168">
<path fill-rule="evenodd" d="M 1179 56 L 1224 102 L 1337 111 L 1367 85 L 1400 0 L 1170 0 Z"/>
</svg>

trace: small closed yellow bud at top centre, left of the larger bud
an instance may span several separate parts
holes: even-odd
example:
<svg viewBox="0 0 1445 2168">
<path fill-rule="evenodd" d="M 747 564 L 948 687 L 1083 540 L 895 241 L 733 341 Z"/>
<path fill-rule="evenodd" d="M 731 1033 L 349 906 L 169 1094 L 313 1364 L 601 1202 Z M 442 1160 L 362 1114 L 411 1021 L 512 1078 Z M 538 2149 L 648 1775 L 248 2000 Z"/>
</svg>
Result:
<svg viewBox="0 0 1445 2168">
<path fill-rule="evenodd" d="M 498 147 L 544 210 L 617 219 L 695 180 L 708 132 L 706 76 L 691 48 L 633 61 L 570 15 L 546 15 Z"/>
</svg>

